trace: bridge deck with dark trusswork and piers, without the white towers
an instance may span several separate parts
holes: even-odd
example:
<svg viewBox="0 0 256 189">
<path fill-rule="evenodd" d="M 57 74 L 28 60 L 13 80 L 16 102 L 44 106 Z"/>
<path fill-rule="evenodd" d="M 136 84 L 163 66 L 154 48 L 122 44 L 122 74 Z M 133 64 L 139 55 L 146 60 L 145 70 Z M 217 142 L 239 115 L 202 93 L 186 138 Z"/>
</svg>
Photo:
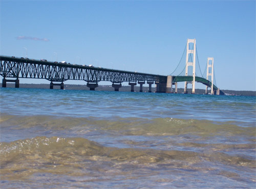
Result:
<svg viewBox="0 0 256 189">
<path fill-rule="evenodd" d="M 177 82 L 193 81 L 192 76 L 161 76 L 70 64 L 66 62 L 50 62 L 44 59 L 34 60 L 29 58 L 0 56 L 0 60 L 0 75 L 4 78 L 3 87 L 6 87 L 7 82 L 15 82 L 15 87 L 18 88 L 18 78 L 37 78 L 49 80 L 51 82 L 50 88 L 53 88 L 53 85 L 60 85 L 60 88 L 63 89 L 63 82 L 67 80 L 84 80 L 87 82 L 87 86 L 90 87 L 90 90 L 95 90 L 99 81 L 110 81 L 113 83 L 112 86 L 115 88 L 115 91 L 119 90 L 122 82 L 129 82 L 131 91 L 134 91 L 134 86 L 138 83 L 140 84 L 140 91 L 142 91 L 142 85 L 147 81 L 150 88 L 148 92 L 151 92 L 152 84 L 154 84 L 154 82 L 157 85 L 157 92 L 168 92 L 169 90 L 172 92 L 173 84 L 176 83 L 177 87 Z M 169 81 L 167 81 L 167 77 L 172 77 L 172 81 L 170 81 L 171 89 L 168 91 L 166 88 Z M 15 78 L 15 80 L 8 78 Z M 211 86 L 211 82 L 204 78 L 196 77 L 196 81 L 201 82 L 208 87 Z M 215 85 L 214 90 L 218 90 Z"/>
</svg>

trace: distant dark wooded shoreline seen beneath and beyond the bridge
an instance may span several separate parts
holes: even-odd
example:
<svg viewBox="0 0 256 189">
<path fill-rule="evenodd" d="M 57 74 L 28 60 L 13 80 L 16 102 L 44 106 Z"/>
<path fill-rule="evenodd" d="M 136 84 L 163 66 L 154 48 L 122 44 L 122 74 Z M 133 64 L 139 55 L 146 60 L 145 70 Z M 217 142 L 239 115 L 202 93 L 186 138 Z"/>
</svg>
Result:
<svg viewBox="0 0 256 189">
<path fill-rule="evenodd" d="M 0 83 L 0 87 L 2 88 L 2 83 Z M 14 83 L 8 83 L 7 87 L 15 87 Z M 49 84 L 26 84 L 26 83 L 20 83 L 20 88 L 40 88 L 40 89 L 49 89 Z M 54 86 L 54 89 L 59 89 L 59 86 Z M 67 90 L 89 90 L 89 87 L 86 85 L 79 85 L 79 84 L 64 84 L 64 89 Z M 95 88 L 97 91 L 114 91 L 114 88 L 111 85 L 99 85 L 97 88 Z M 173 88 L 174 90 L 174 88 Z M 119 91 L 131 91 L 131 86 L 122 86 L 119 88 Z M 134 86 L 134 91 L 139 92 L 140 87 Z M 152 87 L 152 92 L 156 91 L 156 87 Z M 256 96 L 256 91 L 251 90 L 222 90 L 225 92 L 225 95 L 227 96 Z M 148 92 L 148 87 L 143 87 L 143 92 Z M 183 93 L 184 88 L 178 88 L 178 93 Z M 188 89 L 188 93 L 191 93 L 191 89 Z M 196 89 L 196 94 L 203 95 L 205 93 L 204 89 Z"/>
</svg>

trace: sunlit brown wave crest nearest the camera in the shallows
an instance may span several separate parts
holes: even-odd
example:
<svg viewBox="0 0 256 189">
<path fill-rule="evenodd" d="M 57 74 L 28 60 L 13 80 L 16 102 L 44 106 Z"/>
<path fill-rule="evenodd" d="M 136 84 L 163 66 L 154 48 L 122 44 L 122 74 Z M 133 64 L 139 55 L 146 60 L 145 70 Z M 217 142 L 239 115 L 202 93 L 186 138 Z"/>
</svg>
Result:
<svg viewBox="0 0 256 189">
<path fill-rule="evenodd" d="M 184 144 L 187 145 L 187 144 Z M 191 145 L 191 144 L 189 144 Z M 192 144 L 193 145 L 193 144 Z M 227 155 L 222 152 L 205 153 L 178 150 L 155 150 L 134 148 L 104 147 L 86 138 L 64 138 L 38 136 L 34 138 L 15 140 L 10 143 L 2 142 L 1 167 L 9 162 L 26 161 L 45 158 L 52 162 L 70 160 L 72 162 L 84 159 L 117 161 L 136 161 L 137 163 L 153 163 L 166 160 L 188 160 L 195 161 L 197 157 L 205 160 L 219 160 L 225 163 L 238 164 L 240 166 L 255 167 L 255 160 L 246 157 Z M 237 147 L 239 148 L 239 147 Z M 243 148 L 253 148 L 251 145 L 243 145 Z M 190 161 L 190 160 L 188 160 Z"/>
</svg>

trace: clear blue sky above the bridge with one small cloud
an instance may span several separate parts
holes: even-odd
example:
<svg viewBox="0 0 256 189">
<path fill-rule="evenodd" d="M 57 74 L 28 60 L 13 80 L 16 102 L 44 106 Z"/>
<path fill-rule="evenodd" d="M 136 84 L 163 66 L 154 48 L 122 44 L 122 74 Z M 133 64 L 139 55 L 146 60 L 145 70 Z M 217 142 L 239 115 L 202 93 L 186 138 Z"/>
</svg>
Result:
<svg viewBox="0 0 256 189">
<path fill-rule="evenodd" d="M 255 1 L 1 1 L 1 55 L 169 75 L 187 38 L 218 87 L 256 90 Z"/>
</svg>

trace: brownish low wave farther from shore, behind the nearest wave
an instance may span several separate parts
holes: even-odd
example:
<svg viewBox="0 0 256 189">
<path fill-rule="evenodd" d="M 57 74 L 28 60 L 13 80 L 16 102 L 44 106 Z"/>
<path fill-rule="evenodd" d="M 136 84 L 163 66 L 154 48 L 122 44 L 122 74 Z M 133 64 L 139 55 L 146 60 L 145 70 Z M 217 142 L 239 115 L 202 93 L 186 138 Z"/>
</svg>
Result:
<svg viewBox="0 0 256 189">
<path fill-rule="evenodd" d="M 84 131 L 118 132 L 121 135 L 247 135 L 255 136 L 255 125 L 237 122 L 214 122 L 195 119 L 156 118 L 142 119 L 136 117 L 70 117 L 31 115 L 17 116 L 2 114 L 1 128 L 29 129 L 39 128 L 52 131 L 72 130 L 77 133 Z M 241 123 L 240 123 L 241 124 Z"/>
</svg>

